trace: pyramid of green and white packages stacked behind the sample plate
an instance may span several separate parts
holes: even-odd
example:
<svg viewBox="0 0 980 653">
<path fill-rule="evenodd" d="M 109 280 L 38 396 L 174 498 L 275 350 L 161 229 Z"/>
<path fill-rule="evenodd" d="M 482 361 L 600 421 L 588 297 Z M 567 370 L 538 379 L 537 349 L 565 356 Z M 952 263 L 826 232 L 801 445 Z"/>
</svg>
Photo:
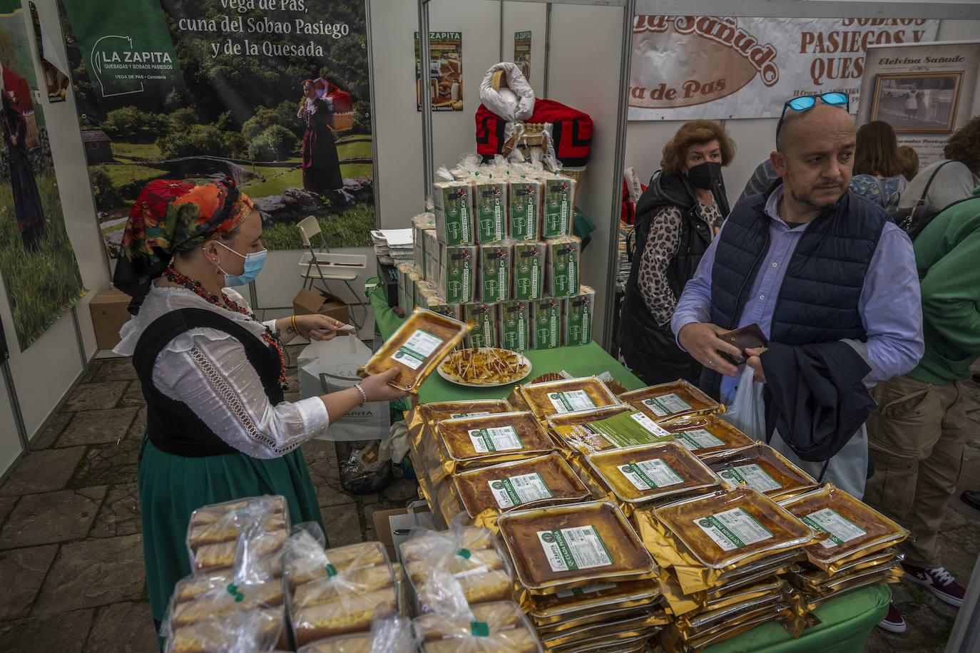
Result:
<svg viewBox="0 0 980 653">
<path fill-rule="evenodd" d="M 415 262 L 399 305 L 474 323 L 466 347 L 524 351 L 592 341 L 595 291 L 579 284 L 575 180 L 529 164 L 465 159 L 412 220 Z"/>
</svg>

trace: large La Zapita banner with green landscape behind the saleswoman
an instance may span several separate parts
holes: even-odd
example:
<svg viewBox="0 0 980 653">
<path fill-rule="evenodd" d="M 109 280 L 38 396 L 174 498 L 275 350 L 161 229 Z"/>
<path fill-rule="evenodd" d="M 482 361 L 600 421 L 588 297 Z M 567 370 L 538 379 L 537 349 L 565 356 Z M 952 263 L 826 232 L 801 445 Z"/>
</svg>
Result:
<svg viewBox="0 0 980 653">
<path fill-rule="evenodd" d="M 308 215 L 329 247 L 370 244 L 363 0 L 59 0 L 59 14 L 112 257 L 158 178 L 234 179 L 269 249 L 302 247 Z"/>
</svg>

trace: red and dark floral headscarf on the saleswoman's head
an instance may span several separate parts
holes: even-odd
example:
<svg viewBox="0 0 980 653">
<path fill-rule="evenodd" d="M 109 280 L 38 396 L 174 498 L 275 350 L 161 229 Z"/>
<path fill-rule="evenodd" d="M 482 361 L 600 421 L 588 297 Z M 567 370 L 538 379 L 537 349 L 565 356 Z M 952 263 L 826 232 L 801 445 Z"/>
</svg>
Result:
<svg viewBox="0 0 980 653">
<path fill-rule="evenodd" d="M 136 198 L 123 233 L 113 282 L 139 310 L 150 283 L 174 254 L 190 252 L 209 238 L 231 231 L 252 211 L 252 201 L 230 179 L 156 179 Z"/>
</svg>

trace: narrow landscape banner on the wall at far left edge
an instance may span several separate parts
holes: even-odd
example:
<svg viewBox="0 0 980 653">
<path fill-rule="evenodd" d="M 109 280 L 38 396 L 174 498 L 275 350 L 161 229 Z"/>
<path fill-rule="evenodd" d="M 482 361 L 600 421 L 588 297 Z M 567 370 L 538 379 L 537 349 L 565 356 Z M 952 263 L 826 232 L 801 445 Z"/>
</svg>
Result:
<svg viewBox="0 0 980 653">
<path fill-rule="evenodd" d="M 33 52 L 21 0 L 0 0 L 0 133 L 4 140 L 0 147 L 0 273 L 22 351 L 85 294 L 65 231 Z"/>
</svg>

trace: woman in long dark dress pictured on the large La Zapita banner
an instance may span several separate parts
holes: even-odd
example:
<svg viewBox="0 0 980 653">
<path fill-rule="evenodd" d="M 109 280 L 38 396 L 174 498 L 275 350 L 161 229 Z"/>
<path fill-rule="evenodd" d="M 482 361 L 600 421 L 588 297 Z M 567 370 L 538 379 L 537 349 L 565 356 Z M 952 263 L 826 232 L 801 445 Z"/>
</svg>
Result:
<svg viewBox="0 0 980 653">
<path fill-rule="evenodd" d="M 306 123 L 303 134 L 303 188 L 320 194 L 342 188 L 340 160 L 333 141 L 333 99 L 325 79 L 304 79 L 303 100 L 296 117 Z"/>
</svg>

